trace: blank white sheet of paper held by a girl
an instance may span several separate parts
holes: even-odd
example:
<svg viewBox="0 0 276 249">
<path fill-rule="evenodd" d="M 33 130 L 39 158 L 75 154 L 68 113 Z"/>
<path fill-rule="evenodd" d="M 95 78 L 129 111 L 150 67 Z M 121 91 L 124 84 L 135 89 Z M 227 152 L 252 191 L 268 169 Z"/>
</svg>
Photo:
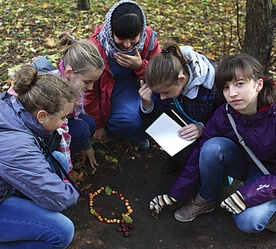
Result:
<svg viewBox="0 0 276 249">
<path fill-rule="evenodd" d="M 163 113 L 156 119 L 146 132 L 170 155 L 174 156 L 195 140 L 187 141 L 178 136 L 181 126 Z"/>
</svg>

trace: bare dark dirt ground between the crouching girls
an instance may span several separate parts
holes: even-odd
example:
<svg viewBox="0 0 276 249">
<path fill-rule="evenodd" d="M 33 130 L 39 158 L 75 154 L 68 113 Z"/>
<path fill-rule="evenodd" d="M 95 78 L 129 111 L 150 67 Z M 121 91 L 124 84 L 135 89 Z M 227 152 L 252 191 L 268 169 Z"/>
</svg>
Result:
<svg viewBox="0 0 276 249">
<path fill-rule="evenodd" d="M 75 224 L 75 236 L 69 249 L 276 248 L 275 233 L 265 230 L 260 234 L 245 234 L 235 226 L 231 214 L 219 206 L 188 223 L 179 223 L 173 217 L 183 203 L 166 207 L 158 219 L 153 218 L 149 201 L 167 193 L 181 171 L 167 174 L 161 170 L 167 154 L 156 144 L 152 143 L 144 152 L 135 151 L 125 141 L 114 142 L 108 148 L 96 145 L 96 149 L 101 166 L 94 174 L 87 167 L 78 169 L 85 176 L 80 186 L 86 194 L 102 186 L 123 194 L 133 208 L 134 227 L 126 238 L 117 231 L 119 224 L 99 222 L 89 213 L 88 200 L 80 198 L 77 205 L 65 211 Z M 112 158 L 118 161 L 110 162 Z M 221 198 L 233 189 L 224 189 Z M 109 219 L 120 218 L 126 212 L 124 201 L 118 195 L 106 195 L 105 191 L 95 197 L 93 207 Z"/>
</svg>

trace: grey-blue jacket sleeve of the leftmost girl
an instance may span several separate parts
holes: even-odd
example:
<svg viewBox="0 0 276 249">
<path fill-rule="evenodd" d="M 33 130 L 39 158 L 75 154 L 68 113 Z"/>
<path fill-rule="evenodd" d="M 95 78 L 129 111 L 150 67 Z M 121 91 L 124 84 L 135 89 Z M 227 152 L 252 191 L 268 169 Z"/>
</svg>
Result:
<svg viewBox="0 0 276 249">
<path fill-rule="evenodd" d="M 2 179 L 41 207 L 62 211 L 76 204 L 79 193 L 50 171 L 36 139 L 25 133 L 11 133 L 5 135 L 5 143 L 0 139 L 5 144 L 0 146 Z"/>
</svg>

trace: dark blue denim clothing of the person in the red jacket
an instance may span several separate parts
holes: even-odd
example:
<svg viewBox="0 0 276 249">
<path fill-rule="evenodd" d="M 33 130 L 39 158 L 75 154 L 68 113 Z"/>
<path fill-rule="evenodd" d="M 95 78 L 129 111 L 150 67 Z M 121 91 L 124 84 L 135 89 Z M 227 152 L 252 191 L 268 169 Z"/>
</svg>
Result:
<svg viewBox="0 0 276 249">
<path fill-rule="evenodd" d="M 141 97 L 138 93 L 138 78 L 133 69 L 122 67 L 110 58 L 108 62 L 115 83 L 106 131 L 121 139 L 144 141 L 148 135 L 139 114 Z"/>
</svg>

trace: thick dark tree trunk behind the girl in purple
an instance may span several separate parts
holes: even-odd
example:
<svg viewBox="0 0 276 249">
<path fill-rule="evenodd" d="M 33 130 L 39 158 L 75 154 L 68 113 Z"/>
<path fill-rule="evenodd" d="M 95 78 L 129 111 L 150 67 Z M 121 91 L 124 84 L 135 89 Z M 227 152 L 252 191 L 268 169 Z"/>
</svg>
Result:
<svg viewBox="0 0 276 249">
<path fill-rule="evenodd" d="M 243 52 L 258 59 L 266 73 L 272 61 L 274 25 L 272 0 L 246 0 Z"/>
</svg>

